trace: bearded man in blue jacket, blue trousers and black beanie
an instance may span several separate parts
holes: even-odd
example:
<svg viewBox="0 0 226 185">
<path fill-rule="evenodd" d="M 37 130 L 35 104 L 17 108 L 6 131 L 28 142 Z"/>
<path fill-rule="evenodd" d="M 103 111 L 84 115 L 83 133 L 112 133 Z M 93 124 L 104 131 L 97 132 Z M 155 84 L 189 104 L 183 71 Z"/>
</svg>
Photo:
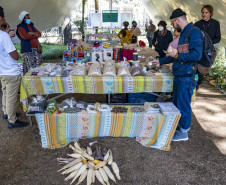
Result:
<svg viewBox="0 0 226 185">
<path fill-rule="evenodd" d="M 167 57 L 154 60 L 153 63 L 160 65 L 173 63 L 173 103 L 181 112 L 179 127 L 173 141 L 185 141 L 188 140 L 191 125 L 191 98 L 197 83 L 196 62 L 202 57 L 203 35 L 198 28 L 191 29 L 193 23 L 187 21 L 186 13 L 180 8 L 172 12 L 170 21 L 175 29 L 181 31 L 178 53 L 168 53 Z M 189 37 L 186 41 L 188 33 Z"/>
</svg>

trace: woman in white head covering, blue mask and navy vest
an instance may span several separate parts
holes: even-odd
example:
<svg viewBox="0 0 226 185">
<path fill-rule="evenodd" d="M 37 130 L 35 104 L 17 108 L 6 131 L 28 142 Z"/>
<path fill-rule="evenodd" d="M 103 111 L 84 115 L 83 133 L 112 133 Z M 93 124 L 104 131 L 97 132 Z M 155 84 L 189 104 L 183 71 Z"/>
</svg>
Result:
<svg viewBox="0 0 226 185">
<path fill-rule="evenodd" d="M 17 25 L 16 34 L 21 41 L 23 73 L 25 74 L 30 68 L 42 64 L 41 47 L 38 41 L 41 33 L 34 27 L 28 12 L 22 11 L 19 20 L 22 22 Z"/>
</svg>

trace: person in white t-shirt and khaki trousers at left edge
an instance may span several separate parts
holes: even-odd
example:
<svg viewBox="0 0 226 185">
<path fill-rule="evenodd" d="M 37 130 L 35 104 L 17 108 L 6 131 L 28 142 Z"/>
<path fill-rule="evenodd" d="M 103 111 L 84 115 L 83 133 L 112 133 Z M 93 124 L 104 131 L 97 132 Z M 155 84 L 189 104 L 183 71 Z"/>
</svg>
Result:
<svg viewBox="0 0 226 185">
<path fill-rule="evenodd" d="M 0 25 L 5 24 L 4 10 L 0 6 Z M 0 80 L 2 84 L 3 118 L 8 119 L 8 128 L 19 128 L 28 125 L 16 117 L 17 95 L 20 86 L 20 69 L 15 60 L 19 54 L 9 34 L 0 30 Z"/>
</svg>

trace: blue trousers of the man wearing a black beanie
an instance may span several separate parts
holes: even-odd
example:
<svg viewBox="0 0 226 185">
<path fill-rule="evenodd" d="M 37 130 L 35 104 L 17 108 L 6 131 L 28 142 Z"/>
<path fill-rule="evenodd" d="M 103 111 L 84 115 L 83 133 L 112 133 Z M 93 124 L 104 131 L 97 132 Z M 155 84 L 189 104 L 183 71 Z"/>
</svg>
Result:
<svg viewBox="0 0 226 185">
<path fill-rule="evenodd" d="M 189 131 L 192 119 L 191 98 L 197 81 L 192 77 L 175 77 L 173 82 L 173 103 L 181 112 L 179 125 L 182 131 Z"/>
</svg>

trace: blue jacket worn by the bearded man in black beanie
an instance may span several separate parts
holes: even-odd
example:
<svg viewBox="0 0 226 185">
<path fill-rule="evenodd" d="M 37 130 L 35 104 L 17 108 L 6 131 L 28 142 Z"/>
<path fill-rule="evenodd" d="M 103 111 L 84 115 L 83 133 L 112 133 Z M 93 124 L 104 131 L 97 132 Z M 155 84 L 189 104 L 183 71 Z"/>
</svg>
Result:
<svg viewBox="0 0 226 185">
<path fill-rule="evenodd" d="M 179 45 L 186 44 L 185 39 L 188 31 L 193 26 L 193 23 L 189 23 L 181 32 L 181 36 L 178 42 Z M 202 58 L 203 50 L 203 35 L 202 32 L 195 28 L 189 35 L 189 52 L 179 53 L 178 58 L 165 57 L 159 59 L 160 65 L 173 62 L 173 75 L 175 77 L 189 77 L 196 73 L 195 62 L 200 61 Z"/>
</svg>

